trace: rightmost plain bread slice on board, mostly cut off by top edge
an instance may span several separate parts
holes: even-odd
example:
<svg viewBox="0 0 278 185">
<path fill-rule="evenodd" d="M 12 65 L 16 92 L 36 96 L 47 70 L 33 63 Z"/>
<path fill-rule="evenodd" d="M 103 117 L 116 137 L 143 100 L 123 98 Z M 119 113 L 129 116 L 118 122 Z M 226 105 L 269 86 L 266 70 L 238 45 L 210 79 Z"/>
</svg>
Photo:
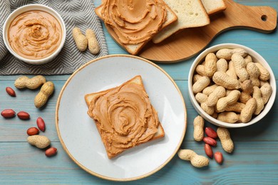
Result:
<svg viewBox="0 0 278 185">
<path fill-rule="evenodd" d="M 225 11 L 227 9 L 227 5 L 224 0 L 201 0 L 202 4 L 207 11 L 207 14 L 216 14 L 220 11 Z"/>
</svg>

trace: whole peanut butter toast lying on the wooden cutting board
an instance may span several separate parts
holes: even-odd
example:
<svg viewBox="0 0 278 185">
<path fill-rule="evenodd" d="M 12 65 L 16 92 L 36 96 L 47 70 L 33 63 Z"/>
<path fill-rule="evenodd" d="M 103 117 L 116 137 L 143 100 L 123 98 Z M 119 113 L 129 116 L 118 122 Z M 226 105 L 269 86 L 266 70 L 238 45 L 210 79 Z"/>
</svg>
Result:
<svg viewBox="0 0 278 185">
<path fill-rule="evenodd" d="M 132 55 L 177 21 L 175 12 L 163 0 L 103 0 L 95 11 L 112 38 Z"/>
</svg>

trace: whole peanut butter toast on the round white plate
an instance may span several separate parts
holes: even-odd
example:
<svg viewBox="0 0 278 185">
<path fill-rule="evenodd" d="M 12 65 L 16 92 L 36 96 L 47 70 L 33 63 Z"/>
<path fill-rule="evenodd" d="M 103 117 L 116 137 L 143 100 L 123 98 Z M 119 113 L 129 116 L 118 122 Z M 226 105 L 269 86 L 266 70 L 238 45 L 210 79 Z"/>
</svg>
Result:
<svg viewBox="0 0 278 185">
<path fill-rule="evenodd" d="M 165 135 L 140 75 L 85 100 L 109 159 Z"/>
</svg>

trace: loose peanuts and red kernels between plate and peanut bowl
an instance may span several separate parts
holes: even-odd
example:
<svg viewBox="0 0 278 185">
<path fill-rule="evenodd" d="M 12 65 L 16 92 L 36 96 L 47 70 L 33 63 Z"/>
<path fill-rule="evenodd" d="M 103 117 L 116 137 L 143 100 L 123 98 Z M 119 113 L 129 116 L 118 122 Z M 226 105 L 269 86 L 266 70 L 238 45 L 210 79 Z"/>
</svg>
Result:
<svg viewBox="0 0 278 185">
<path fill-rule="evenodd" d="M 223 162 L 223 154 L 222 152 L 212 152 L 212 147 L 215 147 L 217 145 L 217 138 L 220 139 L 222 148 L 227 153 L 232 153 L 234 150 L 234 142 L 232 142 L 232 139 L 230 137 L 230 132 L 228 129 L 224 127 L 218 127 L 217 131 L 215 132 L 212 127 L 205 127 L 205 120 L 198 115 L 195 117 L 194 122 L 194 134 L 193 137 L 195 141 L 205 142 L 205 154 L 207 154 L 207 157 L 210 157 L 211 159 L 214 157 L 215 161 L 218 164 L 222 164 Z M 207 136 L 205 136 L 205 134 Z M 202 155 L 196 154 L 191 149 L 180 149 L 177 152 L 177 155 L 180 157 L 180 159 L 190 161 L 192 166 L 195 166 L 197 168 L 201 168 L 204 166 L 207 166 L 210 163 L 210 160 L 207 159 L 207 157 L 204 157 Z"/>
</svg>

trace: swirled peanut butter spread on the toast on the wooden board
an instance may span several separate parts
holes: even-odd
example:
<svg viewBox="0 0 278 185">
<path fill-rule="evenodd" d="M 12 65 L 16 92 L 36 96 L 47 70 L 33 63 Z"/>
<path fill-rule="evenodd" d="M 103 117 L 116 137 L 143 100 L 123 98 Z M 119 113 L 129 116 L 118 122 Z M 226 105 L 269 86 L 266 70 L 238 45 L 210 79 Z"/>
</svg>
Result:
<svg viewBox="0 0 278 185">
<path fill-rule="evenodd" d="M 167 17 L 165 3 L 160 0 L 105 0 L 101 6 L 103 21 L 124 44 L 148 41 Z"/>
</svg>

